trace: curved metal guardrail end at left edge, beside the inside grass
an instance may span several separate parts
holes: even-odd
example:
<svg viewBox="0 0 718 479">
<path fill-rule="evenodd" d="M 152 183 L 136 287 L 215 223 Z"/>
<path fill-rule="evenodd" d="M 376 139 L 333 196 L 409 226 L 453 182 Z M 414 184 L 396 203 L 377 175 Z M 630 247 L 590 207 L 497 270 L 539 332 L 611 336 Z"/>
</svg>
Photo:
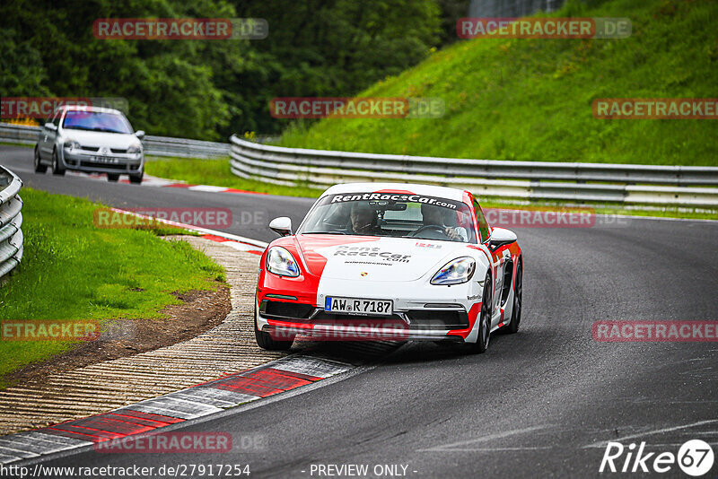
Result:
<svg viewBox="0 0 718 479">
<path fill-rule="evenodd" d="M 22 259 L 22 179 L 0 166 L 0 278 Z"/>
</svg>

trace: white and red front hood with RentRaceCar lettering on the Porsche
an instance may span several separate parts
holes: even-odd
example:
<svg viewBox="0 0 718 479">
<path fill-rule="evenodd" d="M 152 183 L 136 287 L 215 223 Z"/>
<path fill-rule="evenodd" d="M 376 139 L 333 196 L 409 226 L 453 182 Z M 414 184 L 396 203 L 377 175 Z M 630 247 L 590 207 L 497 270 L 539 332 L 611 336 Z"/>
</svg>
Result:
<svg viewBox="0 0 718 479">
<path fill-rule="evenodd" d="M 322 279 L 416 281 L 469 254 L 466 243 L 411 238 L 297 235 L 295 242 L 309 273 Z"/>
</svg>

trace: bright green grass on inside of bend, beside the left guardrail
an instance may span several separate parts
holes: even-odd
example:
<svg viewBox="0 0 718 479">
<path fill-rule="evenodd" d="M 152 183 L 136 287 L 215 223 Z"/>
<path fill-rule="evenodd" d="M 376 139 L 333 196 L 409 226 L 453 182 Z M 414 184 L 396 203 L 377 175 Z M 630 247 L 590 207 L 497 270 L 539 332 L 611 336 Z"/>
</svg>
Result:
<svg viewBox="0 0 718 479">
<path fill-rule="evenodd" d="M 215 290 L 222 266 L 184 241 L 181 230 L 98 229 L 107 206 L 23 188 L 22 264 L 0 287 L 0 322 L 34 319 L 161 318 L 172 292 Z M 0 341 L 0 388 L 9 372 L 63 353 L 74 342 Z"/>
</svg>

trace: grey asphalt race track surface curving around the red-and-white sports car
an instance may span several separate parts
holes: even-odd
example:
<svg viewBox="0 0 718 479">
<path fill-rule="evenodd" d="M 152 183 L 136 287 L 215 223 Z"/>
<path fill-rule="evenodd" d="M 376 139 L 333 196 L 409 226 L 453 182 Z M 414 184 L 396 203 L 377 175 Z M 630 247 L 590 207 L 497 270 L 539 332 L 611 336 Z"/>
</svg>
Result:
<svg viewBox="0 0 718 479">
<path fill-rule="evenodd" d="M 0 163 L 26 187 L 118 207 L 227 207 L 235 217 L 262 211 L 267 221 L 289 215 L 298 224 L 311 205 L 283 196 L 37 175 L 31 155 L 30 148 L 0 146 Z M 516 228 L 525 266 L 521 331 L 492 336 L 486 354 L 408 343 L 346 379 L 182 427 L 263 438 L 246 452 L 82 451 L 44 462 L 249 464 L 252 477 L 328 477 L 311 466 L 328 464 L 364 464 L 370 472 L 403 465 L 407 477 L 419 478 L 591 477 L 599 476 L 608 440 L 626 447 L 645 441 L 646 452 L 677 454 L 685 441 L 700 439 L 718 454 L 717 343 L 600 343 L 591 335 L 597 320 L 718 321 L 718 223 L 618 223 Z M 264 225 L 233 224 L 227 231 L 275 238 Z M 617 467 L 625 459 L 626 453 Z M 718 457 L 705 477 L 716 475 Z M 677 465 L 661 475 L 600 476 L 688 477 Z"/>
</svg>

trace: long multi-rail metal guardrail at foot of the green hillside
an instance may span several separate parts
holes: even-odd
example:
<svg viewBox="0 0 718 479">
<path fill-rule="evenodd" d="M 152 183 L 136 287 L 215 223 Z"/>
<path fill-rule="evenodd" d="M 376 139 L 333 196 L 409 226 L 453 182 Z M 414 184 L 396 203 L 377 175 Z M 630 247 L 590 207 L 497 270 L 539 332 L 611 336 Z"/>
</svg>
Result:
<svg viewBox="0 0 718 479">
<path fill-rule="evenodd" d="M 626 205 L 718 206 L 718 168 L 496 161 L 331 152 L 255 144 L 232 135 L 231 169 L 278 185 L 419 182 L 478 196 Z"/>
</svg>

